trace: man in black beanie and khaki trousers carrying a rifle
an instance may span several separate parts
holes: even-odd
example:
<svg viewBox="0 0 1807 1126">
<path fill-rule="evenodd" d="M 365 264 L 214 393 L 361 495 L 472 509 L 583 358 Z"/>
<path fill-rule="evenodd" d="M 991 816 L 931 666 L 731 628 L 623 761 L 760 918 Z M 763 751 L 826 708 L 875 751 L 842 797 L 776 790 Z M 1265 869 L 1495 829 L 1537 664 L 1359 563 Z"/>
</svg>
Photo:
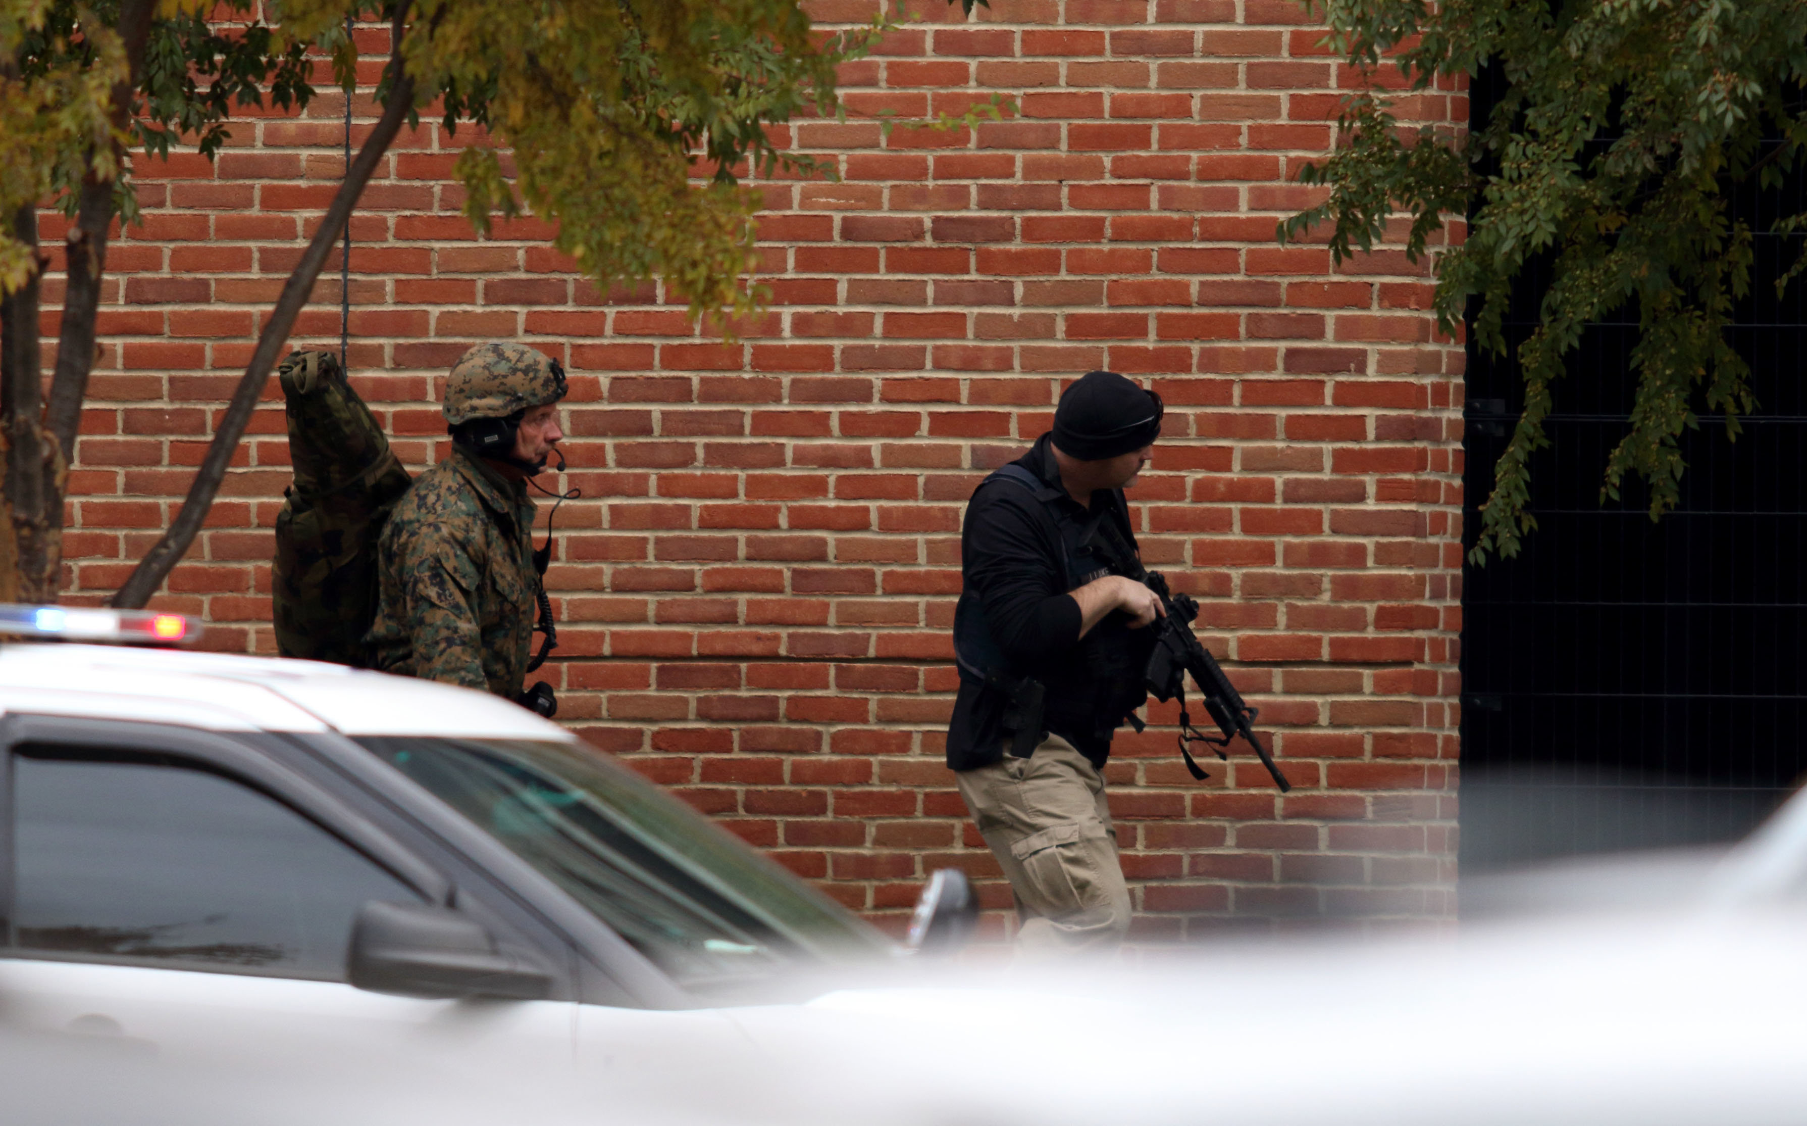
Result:
<svg viewBox="0 0 1807 1126">
<path fill-rule="evenodd" d="M 1053 430 L 967 504 L 947 765 L 1016 893 L 1023 954 L 1111 949 L 1129 929 L 1100 772 L 1147 698 L 1162 605 L 1108 573 L 1100 542 L 1135 551 L 1122 490 L 1153 457 L 1160 416 L 1155 392 L 1090 372 Z"/>
</svg>

